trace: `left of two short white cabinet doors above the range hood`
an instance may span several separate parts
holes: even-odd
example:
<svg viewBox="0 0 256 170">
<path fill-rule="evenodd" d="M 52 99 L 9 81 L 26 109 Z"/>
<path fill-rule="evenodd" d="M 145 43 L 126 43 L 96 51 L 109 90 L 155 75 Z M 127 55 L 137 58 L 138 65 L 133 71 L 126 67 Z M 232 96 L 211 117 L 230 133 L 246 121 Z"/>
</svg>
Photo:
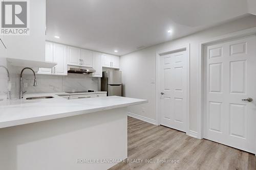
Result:
<svg viewBox="0 0 256 170">
<path fill-rule="evenodd" d="M 80 66 L 81 49 L 73 46 L 68 46 L 68 64 Z"/>
</svg>

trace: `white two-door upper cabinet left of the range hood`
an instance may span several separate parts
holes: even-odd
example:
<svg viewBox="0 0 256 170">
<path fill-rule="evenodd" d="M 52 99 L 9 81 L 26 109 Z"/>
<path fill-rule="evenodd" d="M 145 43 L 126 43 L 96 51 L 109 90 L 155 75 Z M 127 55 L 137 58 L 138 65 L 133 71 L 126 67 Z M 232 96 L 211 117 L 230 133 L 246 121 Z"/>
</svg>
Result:
<svg viewBox="0 0 256 170">
<path fill-rule="evenodd" d="M 45 46 L 45 61 L 56 62 L 57 65 L 53 68 L 39 68 L 37 74 L 67 76 L 67 46 L 48 41 L 45 42 Z"/>
</svg>

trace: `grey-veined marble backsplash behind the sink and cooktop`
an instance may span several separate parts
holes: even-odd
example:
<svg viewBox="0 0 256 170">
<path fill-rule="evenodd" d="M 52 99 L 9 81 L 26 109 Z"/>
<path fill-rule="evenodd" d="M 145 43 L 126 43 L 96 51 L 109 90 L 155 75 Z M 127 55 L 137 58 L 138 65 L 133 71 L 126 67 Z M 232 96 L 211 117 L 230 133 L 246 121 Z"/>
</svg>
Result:
<svg viewBox="0 0 256 170">
<path fill-rule="evenodd" d="M 0 76 L 0 98 L 6 98 L 7 77 Z M 18 98 L 19 74 L 11 74 L 12 98 Z M 26 93 L 47 93 L 65 91 L 99 90 L 99 78 L 90 75 L 68 74 L 68 76 L 36 75 L 37 86 L 33 86 L 34 76 L 23 75 L 24 91 Z M 4 96 L 4 97 L 3 97 Z"/>
</svg>

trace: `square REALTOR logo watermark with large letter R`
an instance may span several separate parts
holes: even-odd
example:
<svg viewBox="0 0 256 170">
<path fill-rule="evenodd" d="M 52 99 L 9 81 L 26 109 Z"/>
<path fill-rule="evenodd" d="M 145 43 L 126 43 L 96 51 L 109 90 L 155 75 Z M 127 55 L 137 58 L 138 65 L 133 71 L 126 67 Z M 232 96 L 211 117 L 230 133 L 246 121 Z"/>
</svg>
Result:
<svg viewBox="0 0 256 170">
<path fill-rule="evenodd" d="M 29 35 L 29 1 L 1 1 L 1 35 Z"/>
</svg>

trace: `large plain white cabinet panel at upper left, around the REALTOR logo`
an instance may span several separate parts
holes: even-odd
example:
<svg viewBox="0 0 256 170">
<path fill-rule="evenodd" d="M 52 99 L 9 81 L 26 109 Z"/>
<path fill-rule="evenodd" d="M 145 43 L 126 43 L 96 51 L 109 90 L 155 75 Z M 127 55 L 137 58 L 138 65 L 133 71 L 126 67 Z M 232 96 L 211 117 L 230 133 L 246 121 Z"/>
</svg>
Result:
<svg viewBox="0 0 256 170">
<path fill-rule="evenodd" d="M 7 47 L 0 44 L 0 57 L 45 61 L 46 0 L 29 1 L 29 23 L 29 35 L 0 36 Z"/>
</svg>

